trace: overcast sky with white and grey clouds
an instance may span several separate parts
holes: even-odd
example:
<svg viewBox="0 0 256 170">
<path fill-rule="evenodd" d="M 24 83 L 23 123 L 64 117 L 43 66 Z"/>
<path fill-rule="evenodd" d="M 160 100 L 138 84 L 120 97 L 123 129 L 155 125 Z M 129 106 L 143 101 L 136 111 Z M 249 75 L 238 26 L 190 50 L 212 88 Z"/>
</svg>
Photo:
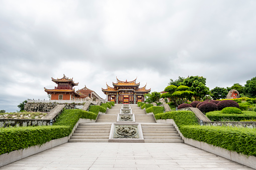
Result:
<svg viewBox="0 0 256 170">
<path fill-rule="evenodd" d="M 47 99 L 63 74 L 101 88 L 136 77 L 162 91 L 169 79 L 207 86 L 256 76 L 256 1 L 2 1 L 0 110 Z"/>
</svg>

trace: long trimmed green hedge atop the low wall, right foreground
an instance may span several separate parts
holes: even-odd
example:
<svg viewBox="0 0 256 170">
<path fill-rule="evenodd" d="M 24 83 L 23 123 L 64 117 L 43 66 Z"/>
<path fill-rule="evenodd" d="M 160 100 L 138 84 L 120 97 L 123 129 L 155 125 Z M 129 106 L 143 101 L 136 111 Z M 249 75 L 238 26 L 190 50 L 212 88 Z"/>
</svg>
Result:
<svg viewBox="0 0 256 170">
<path fill-rule="evenodd" d="M 187 125 L 180 130 L 184 137 L 256 156 L 256 128 Z"/>
</svg>

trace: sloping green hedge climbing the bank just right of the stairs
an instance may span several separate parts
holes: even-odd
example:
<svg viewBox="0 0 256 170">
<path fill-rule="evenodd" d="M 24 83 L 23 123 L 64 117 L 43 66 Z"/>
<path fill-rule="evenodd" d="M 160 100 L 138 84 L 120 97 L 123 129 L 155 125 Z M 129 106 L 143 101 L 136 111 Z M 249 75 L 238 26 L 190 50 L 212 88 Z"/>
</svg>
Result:
<svg viewBox="0 0 256 170">
<path fill-rule="evenodd" d="M 174 119 L 180 128 L 184 125 L 198 125 L 198 119 L 192 111 L 169 111 L 155 114 L 155 119 Z"/>
</svg>

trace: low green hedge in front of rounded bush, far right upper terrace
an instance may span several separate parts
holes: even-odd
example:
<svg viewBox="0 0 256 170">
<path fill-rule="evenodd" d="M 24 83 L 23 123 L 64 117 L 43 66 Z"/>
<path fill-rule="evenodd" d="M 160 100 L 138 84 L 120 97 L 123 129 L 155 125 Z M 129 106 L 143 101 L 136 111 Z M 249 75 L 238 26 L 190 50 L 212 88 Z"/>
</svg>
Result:
<svg viewBox="0 0 256 170">
<path fill-rule="evenodd" d="M 221 111 L 212 111 L 206 113 L 206 116 L 211 121 L 241 121 L 256 119 L 256 112 L 254 111 L 242 111 L 242 114 L 224 114 Z"/>
</svg>

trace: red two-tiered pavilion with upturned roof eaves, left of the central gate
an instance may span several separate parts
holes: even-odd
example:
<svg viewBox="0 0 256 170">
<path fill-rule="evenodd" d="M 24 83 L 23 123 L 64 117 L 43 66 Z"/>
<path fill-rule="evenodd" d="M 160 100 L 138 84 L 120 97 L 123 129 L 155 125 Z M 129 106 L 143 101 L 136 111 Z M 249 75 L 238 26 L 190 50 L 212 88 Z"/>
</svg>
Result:
<svg viewBox="0 0 256 170">
<path fill-rule="evenodd" d="M 78 83 L 74 83 L 73 78 L 69 79 L 64 75 L 61 79 L 52 78 L 52 81 L 57 84 L 57 87 L 54 89 L 44 88 L 44 91 L 50 94 L 50 100 L 71 100 L 80 97 L 73 88 L 78 85 Z"/>
</svg>

